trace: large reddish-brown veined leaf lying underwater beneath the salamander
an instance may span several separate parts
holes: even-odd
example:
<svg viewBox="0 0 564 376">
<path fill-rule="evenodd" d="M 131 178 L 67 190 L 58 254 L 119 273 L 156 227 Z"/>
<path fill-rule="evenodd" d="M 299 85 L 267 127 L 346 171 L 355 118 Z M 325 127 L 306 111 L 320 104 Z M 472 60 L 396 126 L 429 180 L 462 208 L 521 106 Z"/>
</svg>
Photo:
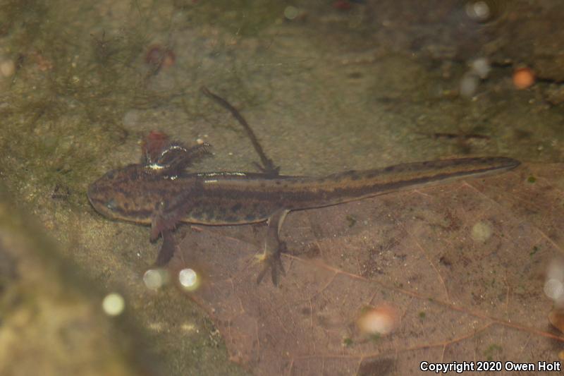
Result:
<svg viewBox="0 0 564 376">
<path fill-rule="evenodd" d="M 563 179 L 562 164 L 528 165 L 291 212 L 279 288 L 255 283 L 257 226 L 194 226 L 171 268 L 198 272 L 200 286 L 185 293 L 257 375 L 551 362 L 564 336 L 548 322 L 543 289 L 548 263 L 563 255 Z"/>
</svg>

